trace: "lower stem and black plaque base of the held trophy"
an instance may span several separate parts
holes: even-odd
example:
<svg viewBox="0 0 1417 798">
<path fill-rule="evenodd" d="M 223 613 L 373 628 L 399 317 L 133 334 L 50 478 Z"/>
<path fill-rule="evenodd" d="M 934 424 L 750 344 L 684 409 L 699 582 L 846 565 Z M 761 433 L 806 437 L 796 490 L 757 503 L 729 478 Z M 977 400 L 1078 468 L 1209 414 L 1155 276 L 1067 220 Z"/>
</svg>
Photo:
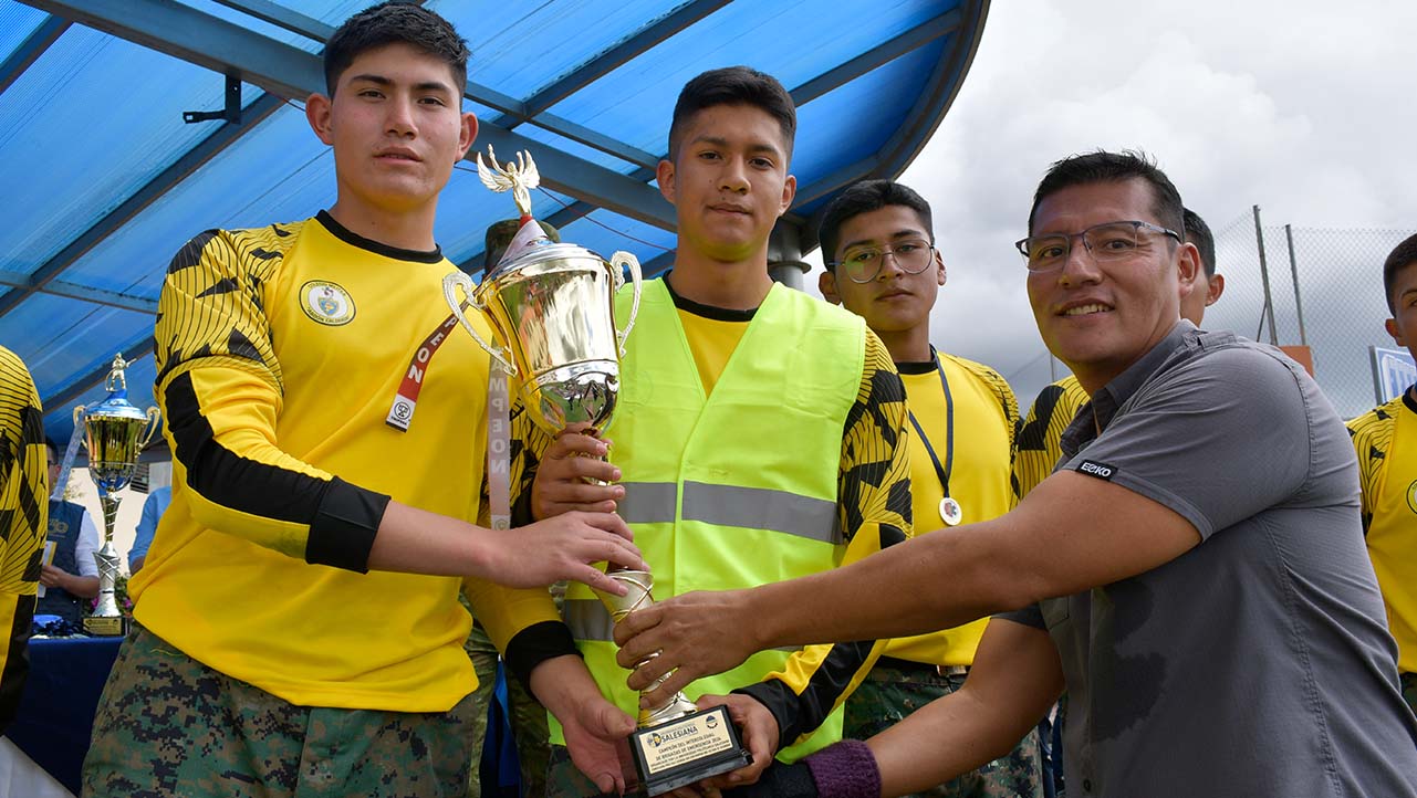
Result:
<svg viewBox="0 0 1417 798">
<path fill-rule="evenodd" d="M 650 594 L 655 579 L 649 572 L 611 570 L 608 576 L 628 589 L 625 596 L 595 590 L 595 597 L 615 623 L 655 603 Z M 669 673 L 665 673 L 642 693 L 667 678 Z M 631 734 L 629 750 L 648 795 L 660 795 L 752 763 L 752 754 L 743 747 L 728 707 L 723 705 L 701 710 L 680 692 L 656 706 L 640 707 L 638 726 Z"/>
</svg>

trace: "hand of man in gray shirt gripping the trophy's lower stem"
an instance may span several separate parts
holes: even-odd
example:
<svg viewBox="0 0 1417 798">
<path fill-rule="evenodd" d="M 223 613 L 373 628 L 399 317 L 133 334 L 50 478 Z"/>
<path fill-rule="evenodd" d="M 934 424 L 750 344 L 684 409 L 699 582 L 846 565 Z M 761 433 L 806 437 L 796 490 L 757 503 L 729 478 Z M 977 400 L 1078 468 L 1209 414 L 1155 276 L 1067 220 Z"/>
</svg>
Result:
<svg viewBox="0 0 1417 798">
<path fill-rule="evenodd" d="M 615 624 L 615 659 L 621 668 L 633 668 L 626 679 L 632 690 L 648 689 L 672 672 L 663 685 L 640 696 L 640 706 L 659 706 L 694 679 L 737 668 L 761 648 L 752 618 L 741 610 L 743 594 L 684 593 L 635 610 Z"/>
</svg>

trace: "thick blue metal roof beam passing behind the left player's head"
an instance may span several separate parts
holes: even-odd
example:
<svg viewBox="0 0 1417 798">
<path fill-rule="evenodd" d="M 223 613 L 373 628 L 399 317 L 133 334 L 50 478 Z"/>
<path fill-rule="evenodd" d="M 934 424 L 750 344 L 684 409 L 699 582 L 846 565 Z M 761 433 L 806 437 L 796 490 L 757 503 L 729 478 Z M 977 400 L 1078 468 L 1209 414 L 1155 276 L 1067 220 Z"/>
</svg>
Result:
<svg viewBox="0 0 1417 798">
<path fill-rule="evenodd" d="M 279 96 L 302 98 L 324 91 L 324 71 L 319 55 L 196 8 L 164 0 L 24 1 L 198 66 L 237 75 Z M 502 98 L 510 100 L 506 95 Z M 485 98 L 473 99 L 485 102 Z M 589 200 L 645 224 L 673 229 L 673 209 L 645 183 L 485 122 L 479 126 L 478 147 L 486 149 L 489 143 L 504 154 L 534 151 L 541 167 L 541 183 L 547 188 L 577 200 Z"/>
</svg>

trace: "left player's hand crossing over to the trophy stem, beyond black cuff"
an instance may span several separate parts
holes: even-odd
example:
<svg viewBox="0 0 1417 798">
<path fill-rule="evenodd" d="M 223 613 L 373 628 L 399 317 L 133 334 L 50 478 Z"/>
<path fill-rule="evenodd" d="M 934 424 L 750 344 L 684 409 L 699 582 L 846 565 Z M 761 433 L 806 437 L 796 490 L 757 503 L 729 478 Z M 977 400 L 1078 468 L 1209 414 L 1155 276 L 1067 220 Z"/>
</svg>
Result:
<svg viewBox="0 0 1417 798">
<path fill-rule="evenodd" d="M 623 596 L 625 586 L 591 563 L 649 567 L 631 542 L 629 525 L 614 512 L 567 512 L 490 535 L 492 579 L 509 587 L 546 587 L 568 579 Z"/>
</svg>

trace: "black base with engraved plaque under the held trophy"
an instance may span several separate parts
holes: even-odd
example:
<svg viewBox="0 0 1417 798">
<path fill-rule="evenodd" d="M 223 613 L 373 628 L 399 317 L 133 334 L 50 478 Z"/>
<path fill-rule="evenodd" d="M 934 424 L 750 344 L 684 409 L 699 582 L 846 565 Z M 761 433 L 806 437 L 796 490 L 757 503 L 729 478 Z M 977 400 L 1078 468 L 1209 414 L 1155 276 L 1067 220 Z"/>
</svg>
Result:
<svg viewBox="0 0 1417 798">
<path fill-rule="evenodd" d="M 752 764 L 724 705 L 639 729 L 631 734 L 629 750 L 639 777 L 636 792 L 649 797 Z"/>
</svg>

